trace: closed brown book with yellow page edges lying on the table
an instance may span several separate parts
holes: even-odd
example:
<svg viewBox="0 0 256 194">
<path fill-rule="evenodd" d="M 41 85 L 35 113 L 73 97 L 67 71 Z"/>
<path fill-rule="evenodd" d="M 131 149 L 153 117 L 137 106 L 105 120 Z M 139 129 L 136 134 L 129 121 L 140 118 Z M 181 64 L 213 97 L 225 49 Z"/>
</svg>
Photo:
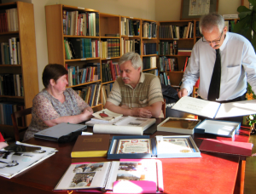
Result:
<svg viewBox="0 0 256 194">
<path fill-rule="evenodd" d="M 71 157 L 107 157 L 109 134 L 79 135 Z"/>
</svg>

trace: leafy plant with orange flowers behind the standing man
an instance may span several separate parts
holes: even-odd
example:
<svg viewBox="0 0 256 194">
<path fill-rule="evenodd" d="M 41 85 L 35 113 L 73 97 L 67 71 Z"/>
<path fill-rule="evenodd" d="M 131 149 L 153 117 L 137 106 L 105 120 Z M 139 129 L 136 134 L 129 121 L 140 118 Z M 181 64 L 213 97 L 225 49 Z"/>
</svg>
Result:
<svg viewBox="0 0 256 194">
<path fill-rule="evenodd" d="M 248 0 L 252 5 L 252 9 L 247 9 L 245 6 L 239 6 L 237 11 L 239 12 L 239 22 L 234 26 L 234 32 L 246 37 L 256 50 L 256 0 Z M 256 99 L 256 95 L 253 93 L 252 87 L 247 83 L 247 100 Z M 252 127 L 252 134 L 256 133 L 255 123 L 256 115 L 247 116 L 247 123 Z"/>
</svg>

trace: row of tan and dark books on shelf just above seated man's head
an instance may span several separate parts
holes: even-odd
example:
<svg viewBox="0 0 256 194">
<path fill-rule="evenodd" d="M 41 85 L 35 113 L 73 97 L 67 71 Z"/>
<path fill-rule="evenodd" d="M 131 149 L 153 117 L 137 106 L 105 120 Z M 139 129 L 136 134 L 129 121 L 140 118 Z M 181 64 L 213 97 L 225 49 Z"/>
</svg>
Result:
<svg viewBox="0 0 256 194">
<path fill-rule="evenodd" d="M 113 39 L 108 38 L 106 40 L 102 40 L 101 48 L 102 48 L 101 57 L 103 59 L 119 57 L 120 55 L 120 43 L 119 43 L 119 39 L 117 38 L 113 38 Z"/>
</svg>

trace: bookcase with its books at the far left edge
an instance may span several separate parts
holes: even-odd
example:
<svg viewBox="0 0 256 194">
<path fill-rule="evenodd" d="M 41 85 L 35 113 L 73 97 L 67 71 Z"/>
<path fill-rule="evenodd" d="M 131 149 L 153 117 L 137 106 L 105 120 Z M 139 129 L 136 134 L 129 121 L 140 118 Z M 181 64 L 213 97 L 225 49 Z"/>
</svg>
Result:
<svg viewBox="0 0 256 194">
<path fill-rule="evenodd" d="M 5 57 L 8 56 L 10 59 L 9 64 L 4 61 L 4 65 L 0 65 L 0 74 L 2 76 L 6 76 L 8 74 L 20 75 L 20 87 L 17 85 L 18 81 L 14 80 L 16 88 L 15 93 L 9 95 L 9 93 L 6 93 L 6 90 L 2 90 L 3 93 L 0 95 L 0 100 L 1 102 L 7 102 L 10 104 L 18 103 L 21 106 L 24 106 L 24 108 L 29 108 L 32 107 L 32 100 L 34 96 L 38 94 L 38 65 L 33 4 L 23 2 L 2 3 L 0 4 L 1 17 L 3 18 L 4 13 L 10 12 L 10 9 L 16 9 L 16 17 L 15 14 L 12 14 L 12 20 L 10 20 L 10 22 L 6 20 L 6 29 L 2 29 L 0 32 L 0 43 L 8 43 L 10 38 L 15 37 L 16 42 L 14 44 L 14 48 L 16 49 L 16 52 L 10 52 L 8 55 L 5 55 Z M 8 14 L 6 15 L 8 17 Z M 3 20 L 1 20 L 1 22 L 2 21 Z M 13 60 L 11 60 L 10 56 L 12 54 L 17 54 L 16 62 L 14 61 L 14 55 Z M 10 89 L 13 89 L 13 86 L 14 85 L 7 85 Z M 9 115 L 10 117 L 11 111 L 9 110 L 9 112 L 5 112 L 6 114 L 4 113 L 4 115 Z M 31 122 L 31 118 L 31 115 L 26 117 L 26 125 Z M 13 127 L 10 124 L 0 124 L 0 128 L 9 129 Z"/>
</svg>

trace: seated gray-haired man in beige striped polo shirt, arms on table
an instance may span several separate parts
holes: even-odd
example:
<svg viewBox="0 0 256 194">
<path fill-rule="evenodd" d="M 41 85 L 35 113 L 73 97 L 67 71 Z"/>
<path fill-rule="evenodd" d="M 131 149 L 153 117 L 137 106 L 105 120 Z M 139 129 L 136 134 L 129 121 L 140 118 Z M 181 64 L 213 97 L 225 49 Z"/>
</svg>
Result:
<svg viewBox="0 0 256 194">
<path fill-rule="evenodd" d="M 126 53 L 119 59 L 121 77 L 114 83 L 105 108 L 133 117 L 160 117 L 164 102 L 160 80 L 143 73 L 139 54 Z"/>
</svg>

